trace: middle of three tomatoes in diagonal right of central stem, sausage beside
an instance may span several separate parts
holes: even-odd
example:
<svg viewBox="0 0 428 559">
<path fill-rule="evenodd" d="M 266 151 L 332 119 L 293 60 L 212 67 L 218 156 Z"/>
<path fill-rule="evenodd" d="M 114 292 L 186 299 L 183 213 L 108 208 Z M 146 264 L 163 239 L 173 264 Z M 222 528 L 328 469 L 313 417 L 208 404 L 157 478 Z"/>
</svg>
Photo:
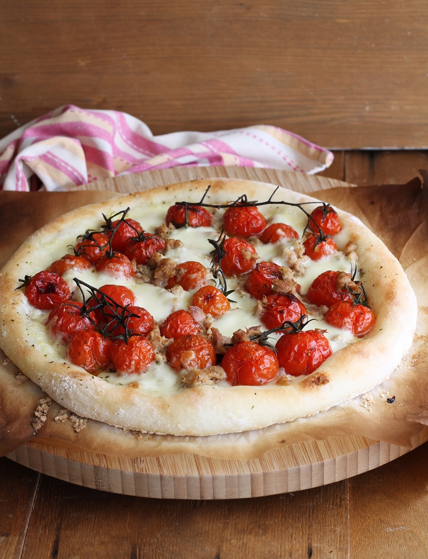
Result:
<svg viewBox="0 0 428 559">
<path fill-rule="evenodd" d="M 245 289 L 255 299 L 263 299 L 265 295 L 272 295 L 273 291 L 288 292 L 299 285 L 292 279 L 284 280 L 284 268 L 274 262 L 259 262 L 245 283 Z"/>
</svg>

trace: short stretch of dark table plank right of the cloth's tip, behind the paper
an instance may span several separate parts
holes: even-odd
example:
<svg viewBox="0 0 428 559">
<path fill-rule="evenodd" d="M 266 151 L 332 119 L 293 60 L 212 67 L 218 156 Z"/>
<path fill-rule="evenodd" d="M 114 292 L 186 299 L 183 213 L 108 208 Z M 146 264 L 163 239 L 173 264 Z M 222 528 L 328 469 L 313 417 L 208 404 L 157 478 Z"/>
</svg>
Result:
<svg viewBox="0 0 428 559">
<path fill-rule="evenodd" d="M 419 169 L 428 169 L 426 150 L 346 151 L 343 180 L 360 186 L 405 184 L 419 175 Z"/>
</svg>

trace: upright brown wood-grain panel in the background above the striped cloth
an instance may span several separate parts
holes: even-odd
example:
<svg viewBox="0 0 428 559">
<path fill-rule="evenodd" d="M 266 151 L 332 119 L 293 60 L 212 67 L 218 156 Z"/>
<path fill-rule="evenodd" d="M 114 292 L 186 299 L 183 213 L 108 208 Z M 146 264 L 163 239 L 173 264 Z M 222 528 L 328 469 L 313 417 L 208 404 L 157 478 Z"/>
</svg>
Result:
<svg viewBox="0 0 428 559">
<path fill-rule="evenodd" d="M 424 0 L 20 0 L 0 22 L 0 136 L 74 103 L 154 134 L 264 123 L 331 148 L 428 146 Z"/>
</svg>

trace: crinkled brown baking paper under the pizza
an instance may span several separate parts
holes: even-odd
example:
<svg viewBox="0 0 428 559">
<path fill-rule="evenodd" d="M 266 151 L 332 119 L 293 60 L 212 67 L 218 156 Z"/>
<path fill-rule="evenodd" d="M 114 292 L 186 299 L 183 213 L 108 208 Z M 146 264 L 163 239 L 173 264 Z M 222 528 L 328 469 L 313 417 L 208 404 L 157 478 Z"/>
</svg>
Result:
<svg viewBox="0 0 428 559">
<path fill-rule="evenodd" d="M 421 172 L 422 176 L 425 173 Z M 425 179 L 428 184 L 428 180 Z M 52 402 L 46 421 L 35 410 L 46 395 L 30 380 L 16 378 L 16 368 L 0 356 L 0 455 L 34 440 L 116 456 L 160 456 L 192 452 L 213 458 L 250 459 L 270 448 L 305 440 L 365 435 L 401 446 L 428 423 L 428 210 L 419 178 L 405 185 L 338 187 L 311 195 L 358 216 L 387 244 L 410 279 L 419 302 L 416 336 L 408 356 L 382 385 L 324 413 L 267 429 L 212 437 L 173 437 L 124 432 L 87 420 L 79 432 L 77 418 Z M 0 192 L 0 264 L 29 234 L 49 219 L 74 207 L 106 200 L 112 192 Z M 403 324 L 403 329 L 406 325 Z M 3 362 L 3 364 L 2 364 Z M 388 399 L 393 403 L 389 403 Z M 37 414 L 36 414 L 37 415 Z M 55 421 L 62 416 L 63 421 Z M 34 421 L 36 419 L 36 421 Z M 409 420 L 411 419 L 411 420 Z M 82 423 L 82 422 L 81 422 Z M 81 425 L 80 425 L 81 427 Z"/>
</svg>

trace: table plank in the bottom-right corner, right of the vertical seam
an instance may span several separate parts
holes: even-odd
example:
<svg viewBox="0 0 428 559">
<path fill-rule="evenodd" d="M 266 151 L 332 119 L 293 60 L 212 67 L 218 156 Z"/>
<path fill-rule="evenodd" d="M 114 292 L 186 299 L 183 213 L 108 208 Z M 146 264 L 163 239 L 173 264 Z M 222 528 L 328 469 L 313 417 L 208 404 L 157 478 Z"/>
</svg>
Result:
<svg viewBox="0 0 428 559">
<path fill-rule="evenodd" d="M 427 459 L 428 444 L 423 444 L 406 456 L 349 480 L 353 559 L 428 556 Z"/>
</svg>

